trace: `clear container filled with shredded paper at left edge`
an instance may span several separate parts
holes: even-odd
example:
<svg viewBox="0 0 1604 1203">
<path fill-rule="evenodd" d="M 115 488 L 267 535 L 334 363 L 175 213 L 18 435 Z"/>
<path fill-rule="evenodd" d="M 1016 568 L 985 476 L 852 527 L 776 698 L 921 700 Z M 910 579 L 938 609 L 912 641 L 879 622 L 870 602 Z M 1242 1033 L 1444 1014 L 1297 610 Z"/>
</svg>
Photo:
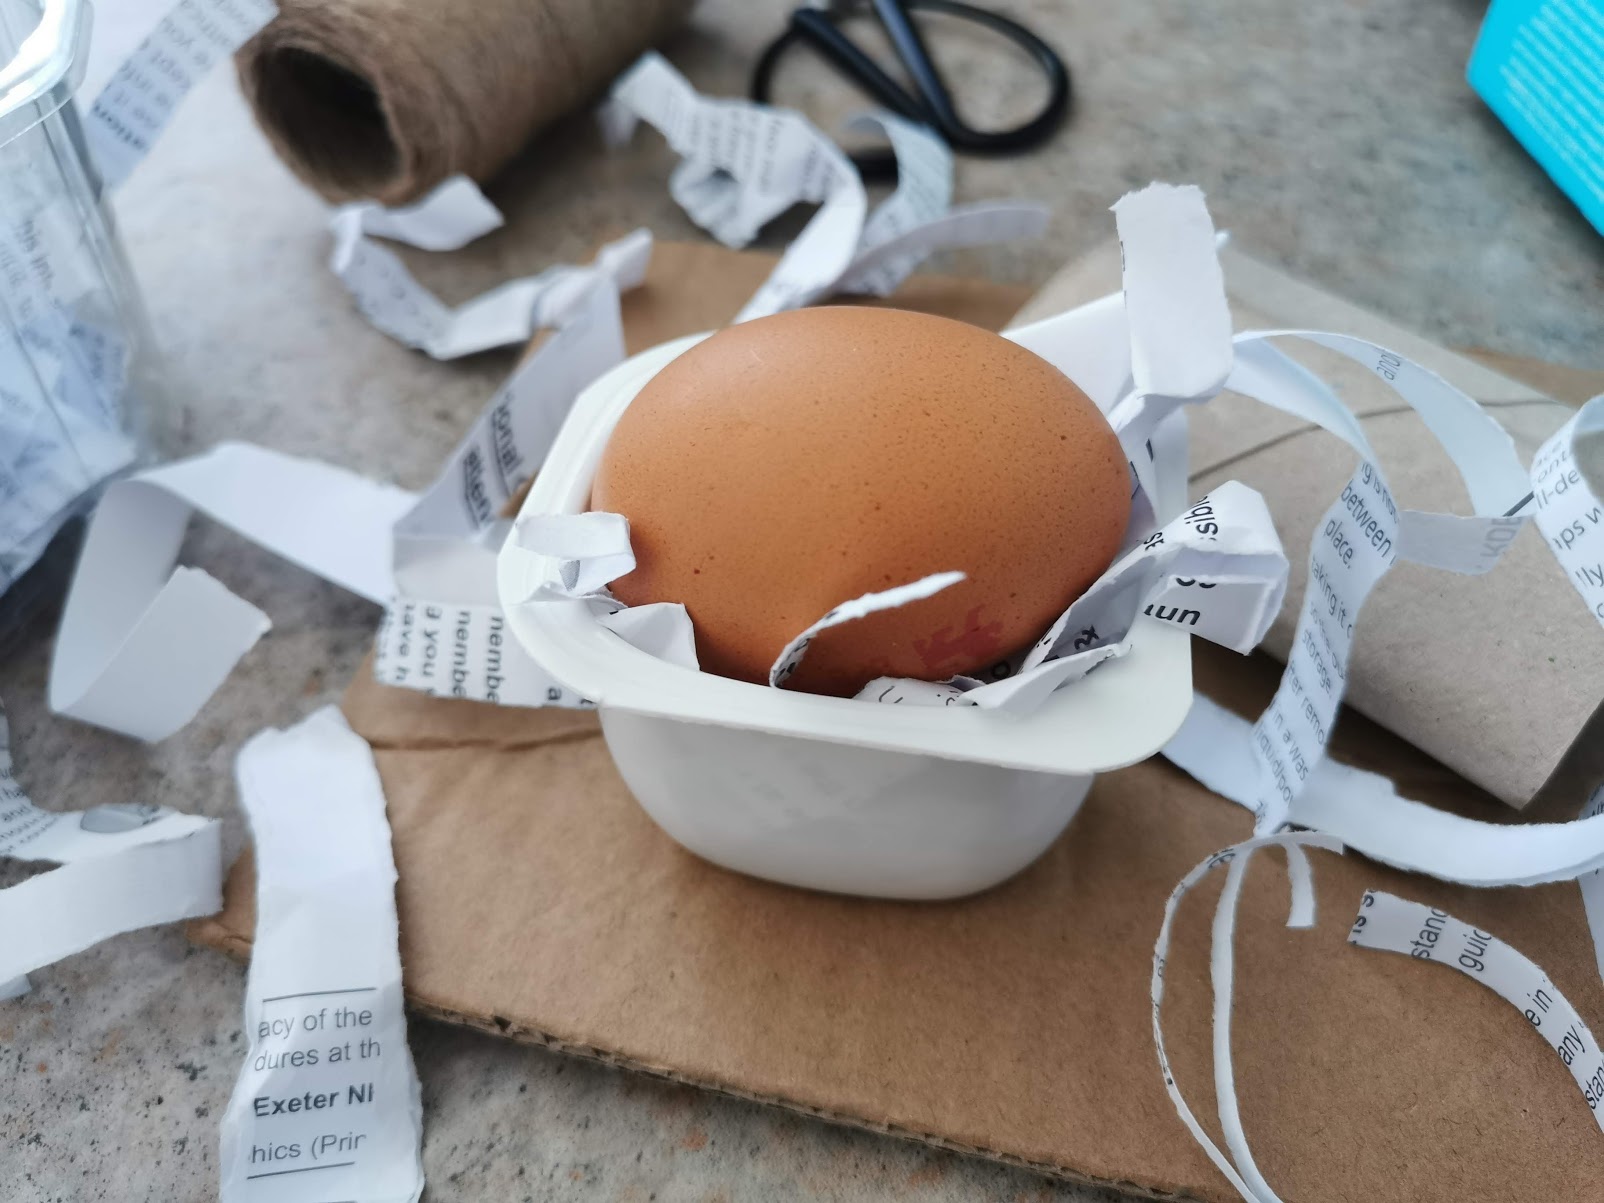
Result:
<svg viewBox="0 0 1604 1203">
<path fill-rule="evenodd" d="M 148 454 L 151 340 L 72 107 L 87 0 L 0 0 L 0 653 Z"/>
</svg>

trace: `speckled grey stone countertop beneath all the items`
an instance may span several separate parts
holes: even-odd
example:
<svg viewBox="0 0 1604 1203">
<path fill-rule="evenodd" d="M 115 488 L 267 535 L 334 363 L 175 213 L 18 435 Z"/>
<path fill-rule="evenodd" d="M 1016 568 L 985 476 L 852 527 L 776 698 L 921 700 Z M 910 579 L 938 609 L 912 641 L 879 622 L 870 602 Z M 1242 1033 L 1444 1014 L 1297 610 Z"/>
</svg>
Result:
<svg viewBox="0 0 1604 1203">
<path fill-rule="evenodd" d="M 162 6 L 103 5 L 101 64 Z M 1043 242 L 943 268 L 1039 282 L 1108 237 L 1105 210 L 1124 189 L 1197 181 L 1254 253 L 1424 334 L 1604 363 L 1604 239 L 1463 82 L 1482 5 L 1001 6 L 1063 48 L 1078 111 L 1043 152 L 961 164 L 958 194 L 1038 197 L 1055 218 Z M 739 91 L 786 10 L 707 0 L 669 53 L 701 87 Z M 978 119 L 1031 99 L 1020 72 L 961 75 Z M 824 120 L 853 107 L 800 61 L 780 96 Z M 602 231 L 696 237 L 664 189 L 670 164 L 651 136 L 608 157 L 574 120 L 492 189 L 507 229 L 415 269 L 456 300 L 573 260 Z M 353 313 L 322 266 L 324 205 L 271 157 L 228 72 L 184 106 L 119 210 L 168 353 L 176 449 L 255 439 L 419 488 L 512 363 L 436 364 Z M 160 799 L 221 815 L 234 852 L 237 746 L 335 699 L 377 611 L 204 525 L 184 558 L 274 621 L 188 730 L 144 747 L 53 719 L 45 629 L 0 664 L 0 696 L 19 775 L 43 805 Z M 241 990 L 239 966 L 168 929 L 71 958 L 0 1004 L 0 1197 L 212 1198 L 217 1123 L 244 1047 Z M 411 1039 L 436 1200 L 1107 1198 L 435 1023 L 414 1022 Z"/>
</svg>

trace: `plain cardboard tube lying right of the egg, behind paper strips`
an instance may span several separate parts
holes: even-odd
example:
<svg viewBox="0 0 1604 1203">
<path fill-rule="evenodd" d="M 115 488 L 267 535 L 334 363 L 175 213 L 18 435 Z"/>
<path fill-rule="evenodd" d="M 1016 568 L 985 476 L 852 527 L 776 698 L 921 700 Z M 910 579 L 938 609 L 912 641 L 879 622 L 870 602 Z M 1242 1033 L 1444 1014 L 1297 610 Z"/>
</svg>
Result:
<svg viewBox="0 0 1604 1203">
<path fill-rule="evenodd" d="M 1604 372 L 1490 353 L 1476 361 L 1233 247 L 1222 252 L 1221 263 L 1238 330 L 1338 330 L 1389 346 L 1487 406 L 1527 464 L 1570 419 L 1572 406 L 1604 393 Z M 1017 321 L 1046 318 L 1118 289 L 1120 252 L 1110 245 L 1065 268 Z M 1448 457 L 1373 372 L 1323 348 L 1291 340 L 1280 346 L 1328 380 L 1360 414 L 1402 505 L 1469 513 Z M 1355 457 L 1335 436 L 1230 393 L 1195 407 L 1189 417 L 1193 491 L 1240 480 L 1264 494 L 1275 516 L 1293 571 L 1288 603 L 1264 650 L 1285 661 L 1302 597 L 1309 536 L 1341 492 Z M 1509 504 L 1517 500 L 1511 497 Z M 1601 703 L 1604 637 L 1533 523 L 1485 576 L 1399 563 L 1359 618 L 1347 704 L 1509 805 L 1527 805 L 1548 784 L 1543 813 L 1575 816 L 1604 778 Z"/>
</svg>

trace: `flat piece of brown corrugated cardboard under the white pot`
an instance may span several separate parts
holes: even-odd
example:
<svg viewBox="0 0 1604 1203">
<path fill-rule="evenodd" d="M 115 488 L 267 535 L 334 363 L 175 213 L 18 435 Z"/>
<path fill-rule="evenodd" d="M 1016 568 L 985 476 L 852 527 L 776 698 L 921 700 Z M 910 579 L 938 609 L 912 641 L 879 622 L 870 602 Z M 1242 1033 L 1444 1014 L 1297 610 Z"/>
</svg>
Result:
<svg viewBox="0 0 1604 1203">
<path fill-rule="evenodd" d="M 659 247 L 626 306 L 630 346 L 717 324 L 770 263 Z M 993 326 L 1017 298 L 929 277 L 898 297 Z M 1195 648 L 1200 685 L 1262 707 L 1272 661 Z M 1166 895 L 1250 821 L 1161 760 L 1099 778 L 1014 881 L 889 903 L 683 852 L 629 796 L 590 714 L 433 699 L 366 672 L 345 712 L 383 778 L 415 1014 L 1046 1174 L 1233 1198 L 1165 1094 L 1148 977 Z M 1360 717 L 1338 747 L 1416 797 L 1511 818 Z M 1315 874 L 1320 924 L 1290 932 L 1278 853 L 1261 857 L 1237 938 L 1243 1120 L 1282 1197 L 1596 1198 L 1604 1136 L 1527 1022 L 1450 969 L 1346 943 L 1368 887 L 1434 903 L 1532 956 L 1604 1031 L 1577 887 L 1477 892 L 1325 853 Z M 1211 1128 L 1217 885 L 1182 909 L 1165 1011 L 1177 1078 Z M 247 954 L 253 895 L 247 853 L 196 938 Z"/>
</svg>

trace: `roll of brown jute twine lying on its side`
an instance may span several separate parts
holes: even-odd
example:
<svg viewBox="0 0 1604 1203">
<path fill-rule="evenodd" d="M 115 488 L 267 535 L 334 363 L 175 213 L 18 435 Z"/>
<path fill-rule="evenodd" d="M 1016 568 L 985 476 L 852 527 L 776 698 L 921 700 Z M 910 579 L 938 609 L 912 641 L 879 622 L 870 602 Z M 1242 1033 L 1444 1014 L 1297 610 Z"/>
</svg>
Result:
<svg viewBox="0 0 1604 1203">
<path fill-rule="evenodd" d="M 236 56 L 274 149 L 330 200 L 491 178 L 695 0 L 279 0 Z"/>
</svg>

